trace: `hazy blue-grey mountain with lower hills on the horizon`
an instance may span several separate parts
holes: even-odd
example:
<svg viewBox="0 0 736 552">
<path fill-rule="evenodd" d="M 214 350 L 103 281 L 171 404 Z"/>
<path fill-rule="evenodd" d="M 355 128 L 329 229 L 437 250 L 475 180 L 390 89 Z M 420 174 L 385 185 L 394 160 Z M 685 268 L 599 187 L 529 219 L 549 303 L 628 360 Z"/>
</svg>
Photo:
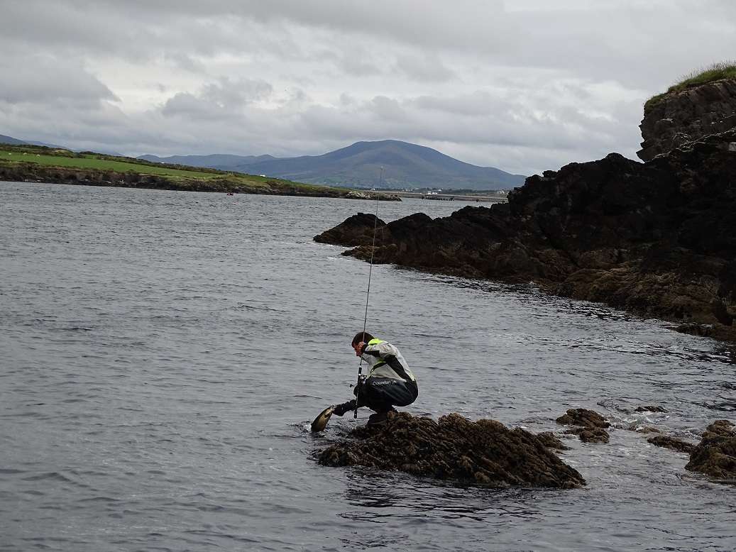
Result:
<svg viewBox="0 0 736 552">
<path fill-rule="evenodd" d="M 385 169 L 381 188 L 494 190 L 520 186 L 525 179 L 522 174 L 463 163 L 436 149 L 397 140 L 355 142 L 324 155 L 297 158 L 275 158 L 271 155 L 175 155 L 160 158 L 141 155 L 139 159 L 359 188 L 378 185 L 381 167 Z"/>
</svg>

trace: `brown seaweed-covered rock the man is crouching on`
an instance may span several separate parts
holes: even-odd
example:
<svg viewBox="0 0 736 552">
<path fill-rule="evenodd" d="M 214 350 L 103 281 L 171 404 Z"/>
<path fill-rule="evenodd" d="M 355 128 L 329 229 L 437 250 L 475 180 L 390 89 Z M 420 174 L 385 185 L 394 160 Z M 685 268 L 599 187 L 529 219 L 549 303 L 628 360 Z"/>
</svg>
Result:
<svg viewBox="0 0 736 552">
<path fill-rule="evenodd" d="M 488 486 L 549 486 L 572 489 L 585 480 L 536 435 L 495 420 L 471 422 L 459 414 L 438 421 L 402 412 L 380 425 L 356 428 L 347 439 L 319 453 L 328 466 L 400 470 Z"/>
</svg>

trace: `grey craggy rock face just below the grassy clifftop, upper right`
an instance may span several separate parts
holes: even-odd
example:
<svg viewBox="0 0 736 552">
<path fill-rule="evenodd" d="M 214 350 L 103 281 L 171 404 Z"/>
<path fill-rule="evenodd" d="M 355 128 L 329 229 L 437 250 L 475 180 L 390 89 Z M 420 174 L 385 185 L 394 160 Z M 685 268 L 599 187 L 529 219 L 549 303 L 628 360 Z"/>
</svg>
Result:
<svg viewBox="0 0 736 552">
<path fill-rule="evenodd" d="M 649 161 L 688 142 L 736 127 L 736 79 L 662 94 L 647 102 L 640 159 Z"/>
</svg>

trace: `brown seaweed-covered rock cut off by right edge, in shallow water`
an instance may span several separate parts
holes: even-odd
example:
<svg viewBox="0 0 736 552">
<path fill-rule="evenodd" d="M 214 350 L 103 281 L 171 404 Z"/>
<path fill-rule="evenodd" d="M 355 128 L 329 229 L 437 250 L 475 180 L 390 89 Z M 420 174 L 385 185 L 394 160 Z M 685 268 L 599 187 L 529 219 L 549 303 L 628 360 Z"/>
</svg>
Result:
<svg viewBox="0 0 736 552">
<path fill-rule="evenodd" d="M 700 472 L 714 478 L 736 478 L 736 431 L 728 420 L 716 420 L 709 425 L 701 442 L 690 452 L 685 470 Z"/>
</svg>

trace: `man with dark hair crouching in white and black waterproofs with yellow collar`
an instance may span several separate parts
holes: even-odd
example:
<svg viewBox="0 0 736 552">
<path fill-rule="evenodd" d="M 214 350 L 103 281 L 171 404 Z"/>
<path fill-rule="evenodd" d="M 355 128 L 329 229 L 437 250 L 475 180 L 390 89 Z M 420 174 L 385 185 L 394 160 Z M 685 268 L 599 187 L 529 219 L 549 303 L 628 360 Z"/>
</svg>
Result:
<svg viewBox="0 0 736 552">
<path fill-rule="evenodd" d="M 375 411 L 368 417 L 371 425 L 384 422 L 386 414 L 396 411 L 394 406 L 408 406 L 417 400 L 417 378 L 397 347 L 367 332 L 356 333 L 352 346 L 355 356 L 366 361 L 370 369 L 367 378 L 353 389 L 355 399 L 335 406 L 333 414 L 342 416 L 356 406 L 367 406 Z"/>
</svg>

